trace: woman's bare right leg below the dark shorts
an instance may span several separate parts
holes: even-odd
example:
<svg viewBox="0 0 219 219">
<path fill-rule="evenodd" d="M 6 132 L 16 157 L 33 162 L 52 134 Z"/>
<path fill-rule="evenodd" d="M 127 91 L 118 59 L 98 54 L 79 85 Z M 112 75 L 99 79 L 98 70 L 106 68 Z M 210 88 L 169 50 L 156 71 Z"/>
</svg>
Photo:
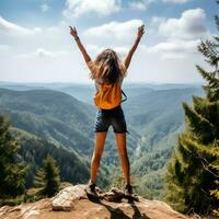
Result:
<svg viewBox="0 0 219 219">
<path fill-rule="evenodd" d="M 122 170 L 127 184 L 130 183 L 130 166 L 126 149 L 126 132 L 115 134 L 116 145 L 118 149 L 118 154 L 120 159 Z"/>
</svg>

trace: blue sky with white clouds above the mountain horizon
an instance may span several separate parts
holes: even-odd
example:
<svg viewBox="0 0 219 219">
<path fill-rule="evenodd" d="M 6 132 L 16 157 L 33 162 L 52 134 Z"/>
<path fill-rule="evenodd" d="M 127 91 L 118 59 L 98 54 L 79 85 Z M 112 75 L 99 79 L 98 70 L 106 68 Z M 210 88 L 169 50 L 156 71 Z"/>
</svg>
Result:
<svg viewBox="0 0 219 219">
<path fill-rule="evenodd" d="M 145 23 L 127 81 L 199 83 L 196 47 L 217 13 L 215 0 L 1 0 L 0 81 L 91 82 L 68 26 L 93 59 L 110 47 L 123 60 Z"/>
</svg>

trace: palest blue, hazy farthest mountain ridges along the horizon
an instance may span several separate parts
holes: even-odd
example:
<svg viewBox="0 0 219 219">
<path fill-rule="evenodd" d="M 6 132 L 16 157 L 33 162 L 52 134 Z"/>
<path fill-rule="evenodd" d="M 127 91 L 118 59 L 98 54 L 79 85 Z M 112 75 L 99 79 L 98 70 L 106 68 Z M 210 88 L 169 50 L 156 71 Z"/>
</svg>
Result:
<svg viewBox="0 0 219 219">
<path fill-rule="evenodd" d="M 92 84 L 80 84 L 80 83 L 16 83 L 16 82 L 0 82 L 0 88 L 15 90 L 15 91 L 27 91 L 27 90 L 55 90 L 61 91 L 73 97 L 93 104 L 93 95 L 95 93 L 94 83 Z M 174 84 L 174 83 L 129 83 L 124 82 L 123 89 L 128 96 L 137 96 L 145 94 L 149 91 L 157 90 L 170 90 L 170 89 L 185 89 L 185 88 L 200 88 L 200 84 Z"/>
</svg>

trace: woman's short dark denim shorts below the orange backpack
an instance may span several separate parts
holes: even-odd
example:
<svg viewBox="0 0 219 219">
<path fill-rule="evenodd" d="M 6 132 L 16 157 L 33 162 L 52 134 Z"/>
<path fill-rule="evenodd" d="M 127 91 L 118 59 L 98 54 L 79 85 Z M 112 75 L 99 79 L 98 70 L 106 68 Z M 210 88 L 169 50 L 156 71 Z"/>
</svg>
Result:
<svg viewBox="0 0 219 219">
<path fill-rule="evenodd" d="M 123 108 L 119 106 L 112 110 L 97 110 L 95 118 L 95 132 L 107 131 L 110 126 L 116 134 L 128 132 Z"/>
</svg>

